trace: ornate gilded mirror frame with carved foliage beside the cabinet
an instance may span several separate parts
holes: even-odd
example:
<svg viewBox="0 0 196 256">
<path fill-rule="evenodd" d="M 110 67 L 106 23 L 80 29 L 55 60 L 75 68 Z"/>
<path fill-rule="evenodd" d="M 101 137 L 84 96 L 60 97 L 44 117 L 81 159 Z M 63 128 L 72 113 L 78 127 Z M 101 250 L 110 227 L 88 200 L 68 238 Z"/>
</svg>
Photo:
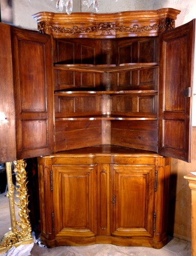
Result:
<svg viewBox="0 0 196 256">
<path fill-rule="evenodd" d="M 12 183 L 11 162 L 6 163 L 7 185 L 10 205 L 11 231 L 7 232 L 0 241 L 0 253 L 6 252 L 12 246 L 20 244 L 29 244 L 33 242 L 31 235 L 32 228 L 29 220 L 28 209 L 28 188 L 27 188 L 27 173 L 26 162 L 22 160 L 14 161 L 14 173 L 16 175 L 16 187 Z M 19 198 L 19 203 L 14 201 L 14 189 L 17 191 L 16 197 Z M 15 205 L 19 207 L 19 221 L 16 221 Z"/>
</svg>

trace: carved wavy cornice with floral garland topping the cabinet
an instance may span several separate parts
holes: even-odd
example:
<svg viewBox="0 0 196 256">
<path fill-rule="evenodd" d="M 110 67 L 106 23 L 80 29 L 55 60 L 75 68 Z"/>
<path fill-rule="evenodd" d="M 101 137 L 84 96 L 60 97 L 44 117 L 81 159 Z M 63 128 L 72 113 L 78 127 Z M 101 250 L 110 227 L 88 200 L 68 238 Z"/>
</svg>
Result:
<svg viewBox="0 0 196 256">
<path fill-rule="evenodd" d="M 117 13 L 39 12 L 33 16 L 41 33 L 54 38 L 89 37 L 118 38 L 126 36 L 157 36 L 159 31 L 174 28 L 179 10 L 163 8 L 155 11 Z"/>
</svg>

